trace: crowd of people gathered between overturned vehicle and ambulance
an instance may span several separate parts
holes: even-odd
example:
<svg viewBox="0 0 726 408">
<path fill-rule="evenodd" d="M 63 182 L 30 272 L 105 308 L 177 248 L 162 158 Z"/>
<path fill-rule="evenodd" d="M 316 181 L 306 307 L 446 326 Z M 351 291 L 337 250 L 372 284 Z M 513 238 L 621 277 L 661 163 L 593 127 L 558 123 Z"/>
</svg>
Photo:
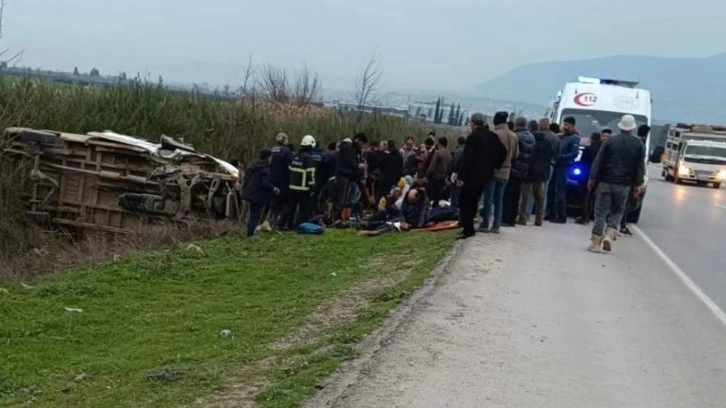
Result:
<svg viewBox="0 0 726 408">
<path fill-rule="evenodd" d="M 531 218 L 535 226 L 567 222 L 568 171 L 581 144 L 574 118 L 565 118 L 560 128 L 547 119 L 497 112 L 490 128 L 477 113 L 469 127 L 452 149 L 447 138 L 431 132 L 421 145 L 407 137 L 400 149 L 394 140 L 369 143 L 358 133 L 323 150 L 307 135 L 296 150 L 280 133 L 245 172 L 247 235 L 266 223 L 283 231 L 306 223 L 354 226 L 362 236 L 378 236 L 458 221 L 467 239 L 527 225 Z M 644 172 L 643 140 L 631 137 L 636 127 L 626 115 L 618 135 L 603 129 L 582 152 L 588 182 L 582 184 L 577 222 L 595 220 L 590 250 L 610 251 L 613 231 L 629 233 L 621 221 L 628 202 L 642 191 Z M 647 136 L 646 128 L 638 135 Z"/>
</svg>

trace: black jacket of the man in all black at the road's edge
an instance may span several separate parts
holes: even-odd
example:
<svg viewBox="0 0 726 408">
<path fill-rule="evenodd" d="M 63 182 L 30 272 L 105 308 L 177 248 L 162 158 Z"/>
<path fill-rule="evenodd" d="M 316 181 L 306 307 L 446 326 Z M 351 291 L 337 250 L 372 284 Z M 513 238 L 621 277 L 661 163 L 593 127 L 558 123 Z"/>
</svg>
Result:
<svg viewBox="0 0 726 408">
<path fill-rule="evenodd" d="M 484 184 L 494 177 L 507 157 L 507 149 L 496 133 L 476 128 L 466 138 L 464 154 L 456 169 L 457 179 L 464 184 Z"/>
</svg>

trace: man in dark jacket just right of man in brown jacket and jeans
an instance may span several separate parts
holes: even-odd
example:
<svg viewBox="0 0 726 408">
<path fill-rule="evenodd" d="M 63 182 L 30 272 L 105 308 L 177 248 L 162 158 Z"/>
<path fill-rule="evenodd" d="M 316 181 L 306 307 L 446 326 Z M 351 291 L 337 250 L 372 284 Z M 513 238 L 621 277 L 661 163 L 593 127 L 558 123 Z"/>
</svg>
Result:
<svg viewBox="0 0 726 408">
<path fill-rule="evenodd" d="M 534 136 L 527 130 L 527 118 L 518 117 L 514 120 L 514 133 L 517 135 L 519 155 L 512 160 L 512 170 L 507 186 L 504 188 L 503 225 L 514 227 L 519 214 L 519 200 L 522 184 L 529 177 L 529 161 L 534 152 Z M 527 225 L 527 220 L 522 221 Z"/>
</svg>

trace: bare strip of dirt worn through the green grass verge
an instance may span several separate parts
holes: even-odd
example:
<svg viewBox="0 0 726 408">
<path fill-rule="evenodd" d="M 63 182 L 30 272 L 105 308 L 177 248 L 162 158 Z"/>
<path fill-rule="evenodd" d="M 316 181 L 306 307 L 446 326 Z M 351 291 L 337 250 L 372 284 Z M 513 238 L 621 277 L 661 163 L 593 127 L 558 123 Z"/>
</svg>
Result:
<svg viewBox="0 0 726 408">
<path fill-rule="evenodd" d="M 419 265 L 406 256 L 378 257 L 370 261 L 369 267 L 382 273 L 341 292 L 318 307 L 295 333 L 277 342 L 272 347 L 286 350 L 313 343 L 336 327 L 354 322 L 371 302 L 386 290 L 399 285 L 411 276 Z"/>
</svg>

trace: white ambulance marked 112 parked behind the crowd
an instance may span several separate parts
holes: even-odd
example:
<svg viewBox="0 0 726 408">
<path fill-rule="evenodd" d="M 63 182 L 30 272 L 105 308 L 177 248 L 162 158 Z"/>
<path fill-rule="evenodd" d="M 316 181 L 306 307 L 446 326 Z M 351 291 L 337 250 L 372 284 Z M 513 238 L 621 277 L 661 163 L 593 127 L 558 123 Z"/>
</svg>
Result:
<svg viewBox="0 0 726 408">
<path fill-rule="evenodd" d="M 580 152 L 590 143 L 593 132 L 611 129 L 613 134 L 618 133 L 617 124 L 623 115 L 633 115 L 640 125 L 651 124 L 650 91 L 638 87 L 637 82 L 623 81 L 607 78 L 579 77 L 577 82 L 565 84 L 557 93 L 547 110 L 547 118 L 552 123 L 562 126 L 568 116 L 575 118 L 578 133 L 581 137 Z M 650 151 L 650 138 L 645 140 L 645 151 Z M 577 159 L 579 161 L 579 157 Z M 646 158 L 647 160 L 647 158 Z M 647 166 L 647 163 L 646 163 Z M 568 203 L 577 203 L 576 190 L 586 183 L 578 177 L 586 172 L 577 167 L 577 163 L 568 173 Z M 647 175 L 646 175 L 647 185 Z M 640 218 L 642 198 L 634 203 L 628 216 L 628 222 L 636 223 Z"/>
</svg>

